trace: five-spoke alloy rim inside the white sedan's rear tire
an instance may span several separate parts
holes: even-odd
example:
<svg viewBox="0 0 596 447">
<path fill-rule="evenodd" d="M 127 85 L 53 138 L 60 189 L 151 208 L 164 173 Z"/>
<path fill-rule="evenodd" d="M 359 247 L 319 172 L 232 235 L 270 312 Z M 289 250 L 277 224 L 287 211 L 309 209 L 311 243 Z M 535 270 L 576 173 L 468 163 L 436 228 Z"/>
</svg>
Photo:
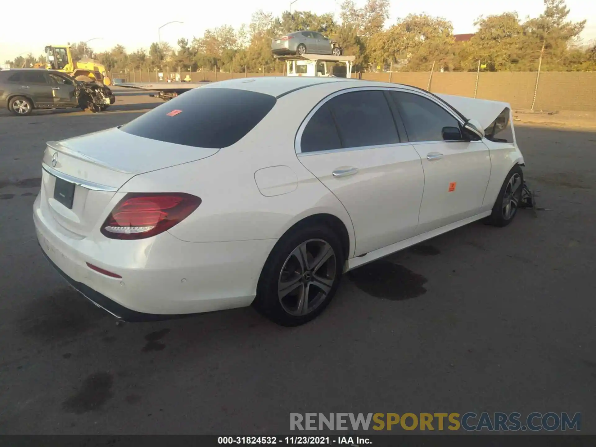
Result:
<svg viewBox="0 0 596 447">
<path fill-rule="evenodd" d="M 311 239 L 300 244 L 284 262 L 278 299 L 290 315 L 306 315 L 321 305 L 336 280 L 337 259 L 330 244 Z"/>
</svg>

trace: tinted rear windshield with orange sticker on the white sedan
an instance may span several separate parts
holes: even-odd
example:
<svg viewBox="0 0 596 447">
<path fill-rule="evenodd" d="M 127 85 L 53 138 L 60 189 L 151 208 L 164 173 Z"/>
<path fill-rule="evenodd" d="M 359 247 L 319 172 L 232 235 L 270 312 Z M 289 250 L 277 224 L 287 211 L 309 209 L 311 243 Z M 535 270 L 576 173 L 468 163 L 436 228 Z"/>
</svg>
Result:
<svg viewBox="0 0 596 447">
<path fill-rule="evenodd" d="M 228 147 L 248 134 L 275 97 L 231 88 L 198 87 L 148 111 L 121 131 L 194 147 Z"/>
</svg>

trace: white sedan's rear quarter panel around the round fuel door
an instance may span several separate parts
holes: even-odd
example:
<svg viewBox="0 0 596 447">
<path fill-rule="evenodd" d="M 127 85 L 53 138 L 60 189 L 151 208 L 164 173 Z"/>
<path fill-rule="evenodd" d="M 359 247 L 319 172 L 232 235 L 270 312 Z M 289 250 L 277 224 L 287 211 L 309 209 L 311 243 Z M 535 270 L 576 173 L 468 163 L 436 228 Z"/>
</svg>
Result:
<svg viewBox="0 0 596 447">
<path fill-rule="evenodd" d="M 277 239 L 303 218 L 328 213 L 344 223 L 353 250 L 352 223 L 342 203 L 302 166 L 294 150 L 303 117 L 318 103 L 321 91 L 335 89 L 333 85 L 315 86 L 279 98 L 269 114 L 236 144 L 197 162 L 137 175 L 120 191 L 184 192 L 200 197 L 198 209 L 169 230 L 184 241 Z M 274 166 L 291 169 L 297 187 L 284 194 L 263 195 L 255 173 Z M 280 179 L 282 189 L 283 182 Z"/>
</svg>

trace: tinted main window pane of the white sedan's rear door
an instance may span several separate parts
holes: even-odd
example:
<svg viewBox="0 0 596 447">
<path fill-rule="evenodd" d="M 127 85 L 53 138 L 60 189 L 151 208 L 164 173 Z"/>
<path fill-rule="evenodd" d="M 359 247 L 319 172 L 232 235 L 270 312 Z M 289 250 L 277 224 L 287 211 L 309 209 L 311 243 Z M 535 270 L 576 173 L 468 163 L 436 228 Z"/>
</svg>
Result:
<svg viewBox="0 0 596 447">
<path fill-rule="evenodd" d="M 382 91 L 344 93 L 331 98 L 328 105 L 343 147 L 399 143 L 393 115 Z"/>
</svg>

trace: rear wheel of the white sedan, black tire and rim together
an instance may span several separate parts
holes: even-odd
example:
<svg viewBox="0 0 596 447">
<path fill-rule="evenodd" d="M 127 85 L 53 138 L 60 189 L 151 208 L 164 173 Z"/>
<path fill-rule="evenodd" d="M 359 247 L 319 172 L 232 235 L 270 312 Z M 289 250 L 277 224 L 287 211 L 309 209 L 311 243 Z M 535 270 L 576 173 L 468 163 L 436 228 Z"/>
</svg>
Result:
<svg viewBox="0 0 596 447">
<path fill-rule="evenodd" d="M 342 277 L 344 254 L 327 226 L 284 235 L 263 266 L 253 305 L 282 326 L 311 321 L 327 308 Z"/>
</svg>

